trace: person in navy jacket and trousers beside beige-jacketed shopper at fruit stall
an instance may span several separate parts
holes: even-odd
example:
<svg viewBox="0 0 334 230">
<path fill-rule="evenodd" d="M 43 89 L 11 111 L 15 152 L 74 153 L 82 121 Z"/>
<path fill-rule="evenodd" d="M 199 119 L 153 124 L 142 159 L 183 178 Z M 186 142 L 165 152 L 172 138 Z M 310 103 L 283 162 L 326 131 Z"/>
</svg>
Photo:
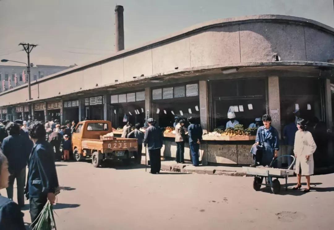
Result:
<svg viewBox="0 0 334 230">
<path fill-rule="evenodd" d="M 188 119 L 190 125 L 188 127 L 188 134 L 189 134 L 189 147 L 192 157 L 192 164 L 193 166 L 199 165 L 199 144 L 202 141 L 203 130 L 202 127 L 198 124 L 195 124 L 195 118 L 190 117 Z"/>
</svg>

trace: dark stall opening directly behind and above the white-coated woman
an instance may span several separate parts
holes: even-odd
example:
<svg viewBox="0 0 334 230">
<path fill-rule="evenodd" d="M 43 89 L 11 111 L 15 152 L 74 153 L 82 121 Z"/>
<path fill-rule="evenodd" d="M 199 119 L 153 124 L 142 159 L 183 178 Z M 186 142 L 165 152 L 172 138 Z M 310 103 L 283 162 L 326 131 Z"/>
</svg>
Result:
<svg viewBox="0 0 334 230">
<path fill-rule="evenodd" d="M 325 121 L 323 80 L 311 77 L 280 78 L 281 125 L 289 123 L 294 112 L 313 123 Z"/>
</svg>

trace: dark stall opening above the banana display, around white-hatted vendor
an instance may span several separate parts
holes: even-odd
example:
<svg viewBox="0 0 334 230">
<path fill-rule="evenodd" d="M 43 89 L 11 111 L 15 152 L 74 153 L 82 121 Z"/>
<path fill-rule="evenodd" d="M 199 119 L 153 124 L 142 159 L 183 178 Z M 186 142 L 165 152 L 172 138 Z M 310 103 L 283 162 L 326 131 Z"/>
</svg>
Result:
<svg viewBox="0 0 334 230">
<path fill-rule="evenodd" d="M 234 111 L 235 120 L 245 129 L 267 111 L 264 78 L 210 81 L 210 90 L 212 130 L 226 128 L 229 110 Z"/>
</svg>

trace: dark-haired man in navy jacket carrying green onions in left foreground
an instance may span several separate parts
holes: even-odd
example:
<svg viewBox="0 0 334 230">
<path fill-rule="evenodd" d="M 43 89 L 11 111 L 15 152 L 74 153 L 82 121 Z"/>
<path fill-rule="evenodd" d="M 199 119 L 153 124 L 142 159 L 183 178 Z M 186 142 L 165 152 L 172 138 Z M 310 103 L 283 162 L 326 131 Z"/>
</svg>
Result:
<svg viewBox="0 0 334 230">
<path fill-rule="evenodd" d="M 30 124 L 29 135 L 34 142 L 34 147 L 29 158 L 25 194 L 30 200 L 30 216 L 33 223 L 47 200 L 54 204 L 55 192 L 59 184 L 53 160 L 53 150 L 51 145 L 45 141 L 46 131 L 43 124 L 40 122 Z"/>
</svg>

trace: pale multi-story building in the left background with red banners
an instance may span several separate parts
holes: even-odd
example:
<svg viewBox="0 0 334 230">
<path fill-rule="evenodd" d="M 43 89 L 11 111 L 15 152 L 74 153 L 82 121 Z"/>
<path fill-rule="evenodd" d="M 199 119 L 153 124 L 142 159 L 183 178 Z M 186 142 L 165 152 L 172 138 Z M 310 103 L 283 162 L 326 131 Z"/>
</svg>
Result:
<svg viewBox="0 0 334 230">
<path fill-rule="evenodd" d="M 73 67 L 71 66 L 57 66 L 57 65 L 36 65 L 30 67 L 30 76 L 31 82 L 45 77 L 47 75 L 60 72 L 62 70 Z M 16 75 L 15 75 L 16 74 Z M 3 91 L 2 82 L 5 80 L 5 88 L 9 89 L 9 81 L 11 81 L 12 87 L 16 87 L 17 85 L 24 84 L 24 75 L 27 79 L 27 67 L 26 66 L 15 66 L 15 65 L 0 65 L 0 89 Z M 17 77 L 17 85 L 15 85 L 15 76 Z"/>
</svg>

